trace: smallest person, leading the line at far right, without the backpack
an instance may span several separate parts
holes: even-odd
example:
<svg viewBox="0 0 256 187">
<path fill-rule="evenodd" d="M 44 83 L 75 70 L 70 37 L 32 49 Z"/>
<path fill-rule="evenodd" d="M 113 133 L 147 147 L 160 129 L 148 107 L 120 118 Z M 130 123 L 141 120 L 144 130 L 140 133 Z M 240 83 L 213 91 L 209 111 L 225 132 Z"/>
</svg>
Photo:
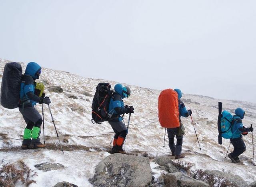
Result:
<svg viewBox="0 0 256 187">
<path fill-rule="evenodd" d="M 242 135 L 246 136 L 248 132 L 253 131 L 252 126 L 248 128 L 243 126 L 242 119 L 244 119 L 244 114 L 245 112 L 242 108 L 236 108 L 235 115 L 233 116 L 231 128 L 233 138 L 230 138 L 230 142 L 234 146 L 234 150 L 232 153 L 228 154 L 228 157 L 233 163 L 240 162 L 241 160 L 238 156 L 240 156 L 246 150 Z"/>
</svg>

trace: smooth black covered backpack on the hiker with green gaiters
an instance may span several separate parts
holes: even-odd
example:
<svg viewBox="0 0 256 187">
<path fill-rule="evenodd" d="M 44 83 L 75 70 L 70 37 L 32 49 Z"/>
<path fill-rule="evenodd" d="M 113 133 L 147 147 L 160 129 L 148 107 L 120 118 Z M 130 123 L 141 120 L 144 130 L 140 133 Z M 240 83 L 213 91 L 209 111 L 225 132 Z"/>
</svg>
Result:
<svg viewBox="0 0 256 187">
<path fill-rule="evenodd" d="M 1 105 L 4 108 L 17 108 L 20 100 L 22 67 L 19 63 L 10 62 L 4 66 L 1 86 Z"/>
</svg>

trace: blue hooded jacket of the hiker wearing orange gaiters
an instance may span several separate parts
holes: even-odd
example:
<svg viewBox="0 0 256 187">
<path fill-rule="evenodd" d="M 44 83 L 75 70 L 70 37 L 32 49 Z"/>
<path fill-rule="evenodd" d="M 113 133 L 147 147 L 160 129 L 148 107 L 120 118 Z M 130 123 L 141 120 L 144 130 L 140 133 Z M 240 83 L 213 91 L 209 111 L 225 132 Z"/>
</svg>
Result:
<svg viewBox="0 0 256 187">
<path fill-rule="evenodd" d="M 108 106 L 108 113 L 112 114 L 112 118 L 110 121 L 118 122 L 122 121 L 121 114 L 125 114 L 127 112 L 127 108 L 124 108 L 124 101 L 123 98 L 128 97 L 125 92 L 127 92 L 126 87 L 123 87 L 121 84 L 117 84 L 114 87 L 115 92 L 110 99 L 110 103 Z"/>
</svg>

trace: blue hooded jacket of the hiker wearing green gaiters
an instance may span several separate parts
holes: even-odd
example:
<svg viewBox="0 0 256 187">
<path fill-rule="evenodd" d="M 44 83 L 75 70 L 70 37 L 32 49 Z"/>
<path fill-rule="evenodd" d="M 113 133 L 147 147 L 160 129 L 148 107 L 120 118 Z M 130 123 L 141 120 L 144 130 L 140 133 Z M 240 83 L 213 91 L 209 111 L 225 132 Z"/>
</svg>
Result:
<svg viewBox="0 0 256 187">
<path fill-rule="evenodd" d="M 40 67 L 40 65 L 38 65 L 35 62 L 28 63 L 26 67 L 26 71 L 24 76 L 22 77 L 22 82 L 20 85 L 20 100 L 21 102 L 27 101 L 26 106 L 34 106 L 36 105 L 36 102 L 38 102 L 38 101 L 30 100 L 27 94 L 32 92 L 32 94 L 34 95 L 34 92 L 35 92 L 34 80 L 39 78 L 38 72 L 41 69 L 42 68 Z M 30 100 L 30 104 L 28 104 L 28 100 Z"/>
</svg>

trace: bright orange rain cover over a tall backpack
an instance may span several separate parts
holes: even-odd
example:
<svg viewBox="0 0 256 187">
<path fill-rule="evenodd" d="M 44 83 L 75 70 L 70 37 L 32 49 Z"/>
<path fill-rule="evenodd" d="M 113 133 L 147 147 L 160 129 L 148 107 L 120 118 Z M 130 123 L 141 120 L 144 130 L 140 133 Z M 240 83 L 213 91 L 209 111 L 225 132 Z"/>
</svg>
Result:
<svg viewBox="0 0 256 187">
<path fill-rule="evenodd" d="M 164 128 L 180 126 L 178 93 L 172 89 L 163 90 L 158 97 L 158 118 Z"/>
</svg>

